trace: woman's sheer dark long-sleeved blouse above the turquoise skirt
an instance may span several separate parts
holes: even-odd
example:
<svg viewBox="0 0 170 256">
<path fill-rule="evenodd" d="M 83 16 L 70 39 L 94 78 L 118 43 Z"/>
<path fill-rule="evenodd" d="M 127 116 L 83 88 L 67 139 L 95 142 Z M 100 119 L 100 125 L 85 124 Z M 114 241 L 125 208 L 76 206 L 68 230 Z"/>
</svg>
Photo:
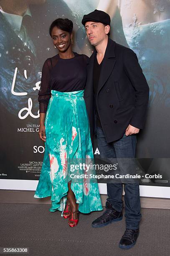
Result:
<svg viewBox="0 0 170 256">
<path fill-rule="evenodd" d="M 74 58 L 61 59 L 59 54 L 43 64 L 41 87 L 38 92 L 40 113 L 46 113 L 51 90 L 74 92 L 84 90 L 88 56 L 74 52 Z"/>
</svg>

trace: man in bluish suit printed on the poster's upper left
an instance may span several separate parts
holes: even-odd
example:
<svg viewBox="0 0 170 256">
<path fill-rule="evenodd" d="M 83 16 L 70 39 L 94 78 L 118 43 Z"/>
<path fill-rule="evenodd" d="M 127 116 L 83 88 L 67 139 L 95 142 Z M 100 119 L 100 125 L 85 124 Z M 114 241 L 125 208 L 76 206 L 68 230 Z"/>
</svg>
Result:
<svg viewBox="0 0 170 256">
<path fill-rule="evenodd" d="M 28 105 L 28 96 L 19 97 L 11 93 L 15 68 L 18 68 L 15 92 L 27 92 L 33 97 L 33 87 L 40 80 L 38 71 L 41 70 L 37 67 L 37 49 L 33 37 L 34 15 L 29 7 L 30 2 L 44 3 L 45 0 L 0 0 L 0 44 L 3 46 L 0 48 L 1 104 L 15 115 Z M 28 79 L 25 79 L 24 70 L 27 71 Z"/>
</svg>

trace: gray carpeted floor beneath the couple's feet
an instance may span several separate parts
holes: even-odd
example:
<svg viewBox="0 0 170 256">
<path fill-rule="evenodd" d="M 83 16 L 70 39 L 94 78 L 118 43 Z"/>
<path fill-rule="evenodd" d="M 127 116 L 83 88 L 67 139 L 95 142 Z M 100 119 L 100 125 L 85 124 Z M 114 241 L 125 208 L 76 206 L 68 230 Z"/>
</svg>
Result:
<svg viewBox="0 0 170 256">
<path fill-rule="evenodd" d="M 1 203 L 0 247 L 29 247 L 31 256 L 170 256 L 170 210 L 142 208 L 136 246 L 122 250 L 118 244 L 125 230 L 124 218 L 92 228 L 91 222 L 101 212 L 80 214 L 79 224 L 70 228 L 61 212 L 49 212 L 49 208 L 46 204 Z"/>
</svg>

